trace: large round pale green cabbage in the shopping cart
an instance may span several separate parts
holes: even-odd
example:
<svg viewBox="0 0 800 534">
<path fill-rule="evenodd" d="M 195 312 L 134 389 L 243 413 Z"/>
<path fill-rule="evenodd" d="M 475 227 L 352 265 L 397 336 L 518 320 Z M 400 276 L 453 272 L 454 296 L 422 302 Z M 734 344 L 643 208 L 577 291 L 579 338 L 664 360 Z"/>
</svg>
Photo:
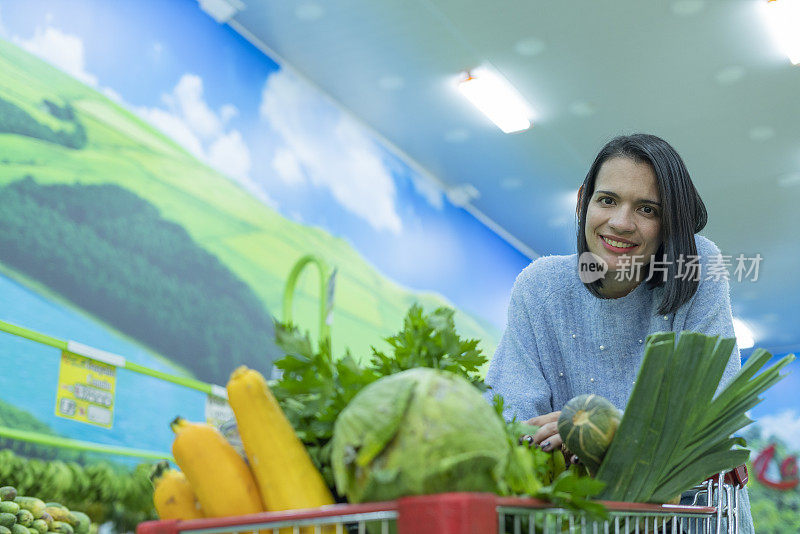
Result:
<svg viewBox="0 0 800 534">
<path fill-rule="evenodd" d="M 336 489 L 352 503 L 449 491 L 497 492 L 510 453 L 505 424 L 477 388 L 411 369 L 361 390 L 333 430 Z"/>
</svg>

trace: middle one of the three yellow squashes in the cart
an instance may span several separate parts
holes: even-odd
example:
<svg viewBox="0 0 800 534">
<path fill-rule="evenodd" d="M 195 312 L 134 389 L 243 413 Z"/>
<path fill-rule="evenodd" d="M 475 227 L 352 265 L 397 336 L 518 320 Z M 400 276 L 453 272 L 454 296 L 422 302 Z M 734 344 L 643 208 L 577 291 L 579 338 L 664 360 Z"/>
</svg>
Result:
<svg viewBox="0 0 800 534">
<path fill-rule="evenodd" d="M 264 511 L 250 468 L 216 428 L 181 417 L 171 426 L 172 455 L 207 517 Z"/>
</svg>

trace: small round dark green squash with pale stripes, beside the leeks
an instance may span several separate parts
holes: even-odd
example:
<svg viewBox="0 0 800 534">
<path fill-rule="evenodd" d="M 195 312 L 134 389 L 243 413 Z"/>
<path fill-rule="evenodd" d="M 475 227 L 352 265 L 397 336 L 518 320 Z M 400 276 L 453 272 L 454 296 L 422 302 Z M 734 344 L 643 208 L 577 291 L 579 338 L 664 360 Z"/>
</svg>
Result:
<svg viewBox="0 0 800 534">
<path fill-rule="evenodd" d="M 594 474 L 614 439 L 621 418 L 620 411 L 605 397 L 578 395 L 561 409 L 558 433 L 567 448 Z"/>
</svg>

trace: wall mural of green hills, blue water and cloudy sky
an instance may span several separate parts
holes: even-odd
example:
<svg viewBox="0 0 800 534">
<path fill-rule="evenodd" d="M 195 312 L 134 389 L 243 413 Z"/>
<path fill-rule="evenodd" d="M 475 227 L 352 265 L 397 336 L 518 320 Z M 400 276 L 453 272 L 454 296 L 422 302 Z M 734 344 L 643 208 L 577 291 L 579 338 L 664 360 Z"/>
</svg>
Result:
<svg viewBox="0 0 800 534">
<path fill-rule="evenodd" d="M 528 258 L 196 2 L 4 2 L 0 73 L 0 320 L 224 384 L 270 371 L 286 278 L 316 254 L 334 353 L 368 358 L 414 302 L 493 352 Z M 317 306 L 304 274 L 314 336 Z M 0 359 L 0 426 L 166 451 L 173 416 L 205 416 L 204 393 L 120 370 L 111 428 L 55 417 L 59 351 L 0 333 Z M 773 464 L 800 443 L 790 382 L 749 429 Z M 796 504 L 794 463 L 758 467 Z"/>
</svg>

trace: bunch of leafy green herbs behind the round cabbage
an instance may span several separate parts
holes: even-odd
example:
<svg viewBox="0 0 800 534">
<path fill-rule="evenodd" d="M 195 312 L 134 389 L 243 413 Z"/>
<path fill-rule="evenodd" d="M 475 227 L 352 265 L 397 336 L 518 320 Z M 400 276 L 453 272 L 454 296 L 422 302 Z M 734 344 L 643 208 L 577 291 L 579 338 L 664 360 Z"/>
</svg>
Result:
<svg viewBox="0 0 800 534">
<path fill-rule="evenodd" d="M 386 338 L 392 349 L 389 354 L 373 347 L 370 362 L 364 366 L 349 351 L 334 359 L 327 341 L 315 347 L 308 334 L 296 326 L 275 323 L 276 343 L 286 356 L 275 362 L 283 374 L 270 389 L 329 487 L 334 487 L 330 462 L 333 425 L 365 386 L 407 369 L 432 367 L 460 375 L 481 390 L 486 388 L 477 374 L 487 361 L 478 349 L 479 341 L 461 339 L 453 314 L 449 308 L 425 314 L 415 304 L 403 320 L 403 329 Z"/>
</svg>

